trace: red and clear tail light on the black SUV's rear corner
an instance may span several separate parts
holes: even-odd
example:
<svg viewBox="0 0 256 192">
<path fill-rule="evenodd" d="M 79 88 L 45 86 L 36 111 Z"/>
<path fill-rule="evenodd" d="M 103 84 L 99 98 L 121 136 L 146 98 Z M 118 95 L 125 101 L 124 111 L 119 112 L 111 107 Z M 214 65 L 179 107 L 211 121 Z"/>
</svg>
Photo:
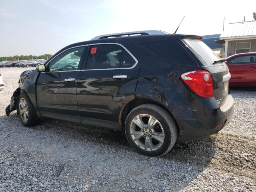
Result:
<svg viewBox="0 0 256 192">
<path fill-rule="evenodd" d="M 212 76 L 208 71 L 196 70 L 181 75 L 183 82 L 200 97 L 213 97 Z"/>
</svg>

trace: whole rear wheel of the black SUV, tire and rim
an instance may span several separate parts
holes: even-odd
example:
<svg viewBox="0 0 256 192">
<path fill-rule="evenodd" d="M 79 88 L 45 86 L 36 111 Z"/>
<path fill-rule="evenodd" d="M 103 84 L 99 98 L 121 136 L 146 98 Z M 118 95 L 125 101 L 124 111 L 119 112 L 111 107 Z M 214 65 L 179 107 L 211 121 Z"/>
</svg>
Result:
<svg viewBox="0 0 256 192">
<path fill-rule="evenodd" d="M 140 121 L 137 121 L 138 119 Z M 150 126 L 149 120 L 156 123 Z M 143 123 L 145 127 L 142 129 Z M 137 152 L 146 156 L 163 156 L 172 149 L 177 140 L 177 127 L 172 116 L 164 108 L 155 104 L 143 104 L 128 114 L 125 134 L 128 142 Z"/>
</svg>

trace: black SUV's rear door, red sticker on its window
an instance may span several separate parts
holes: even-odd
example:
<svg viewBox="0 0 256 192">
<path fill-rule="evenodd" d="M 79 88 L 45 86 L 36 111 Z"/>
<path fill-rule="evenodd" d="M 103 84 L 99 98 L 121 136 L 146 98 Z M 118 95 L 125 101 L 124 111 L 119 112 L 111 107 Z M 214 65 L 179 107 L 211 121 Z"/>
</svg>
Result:
<svg viewBox="0 0 256 192">
<path fill-rule="evenodd" d="M 78 113 L 83 123 L 119 128 L 119 114 L 134 99 L 139 65 L 121 44 L 93 44 L 78 77 Z"/>
</svg>

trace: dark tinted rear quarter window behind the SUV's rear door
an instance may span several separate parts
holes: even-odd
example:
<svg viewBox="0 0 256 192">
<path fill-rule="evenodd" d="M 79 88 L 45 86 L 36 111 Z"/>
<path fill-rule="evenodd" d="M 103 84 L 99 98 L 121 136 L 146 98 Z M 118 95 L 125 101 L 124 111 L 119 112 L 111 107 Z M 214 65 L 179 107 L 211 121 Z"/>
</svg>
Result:
<svg viewBox="0 0 256 192">
<path fill-rule="evenodd" d="M 138 41 L 137 43 L 173 64 L 198 66 L 194 59 L 174 38 L 145 40 Z"/>
</svg>

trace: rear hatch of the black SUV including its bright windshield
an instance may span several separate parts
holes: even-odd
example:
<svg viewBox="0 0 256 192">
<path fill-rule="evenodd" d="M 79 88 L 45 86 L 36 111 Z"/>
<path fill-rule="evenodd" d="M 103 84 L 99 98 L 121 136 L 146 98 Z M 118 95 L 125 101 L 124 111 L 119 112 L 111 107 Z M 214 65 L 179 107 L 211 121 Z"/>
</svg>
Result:
<svg viewBox="0 0 256 192">
<path fill-rule="evenodd" d="M 202 69 L 211 73 L 214 86 L 214 98 L 219 106 L 222 106 L 228 96 L 228 80 L 230 79 L 228 66 L 223 59 L 221 60 L 214 51 L 202 42 L 200 36 L 184 36 L 182 41 L 200 60 Z"/>
</svg>

